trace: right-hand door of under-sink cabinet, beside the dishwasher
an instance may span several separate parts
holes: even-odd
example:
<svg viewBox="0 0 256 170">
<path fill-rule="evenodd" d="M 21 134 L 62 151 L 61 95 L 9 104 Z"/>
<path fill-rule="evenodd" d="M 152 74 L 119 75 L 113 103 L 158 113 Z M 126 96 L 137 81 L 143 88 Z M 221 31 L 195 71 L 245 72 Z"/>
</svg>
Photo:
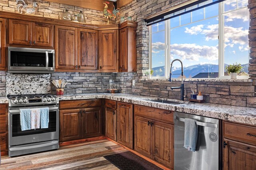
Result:
<svg viewBox="0 0 256 170">
<path fill-rule="evenodd" d="M 153 121 L 152 125 L 152 158 L 173 169 L 174 139 L 173 125 Z"/>
</svg>

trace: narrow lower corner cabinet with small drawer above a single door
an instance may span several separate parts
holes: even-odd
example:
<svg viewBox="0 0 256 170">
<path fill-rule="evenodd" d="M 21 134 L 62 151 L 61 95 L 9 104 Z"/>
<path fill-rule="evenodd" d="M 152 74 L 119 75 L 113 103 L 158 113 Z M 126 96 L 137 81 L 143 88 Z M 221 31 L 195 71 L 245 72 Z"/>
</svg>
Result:
<svg viewBox="0 0 256 170">
<path fill-rule="evenodd" d="M 105 100 L 105 135 L 106 137 L 116 141 L 117 140 L 117 110 L 116 110 L 116 101 L 114 100 Z"/>
</svg>

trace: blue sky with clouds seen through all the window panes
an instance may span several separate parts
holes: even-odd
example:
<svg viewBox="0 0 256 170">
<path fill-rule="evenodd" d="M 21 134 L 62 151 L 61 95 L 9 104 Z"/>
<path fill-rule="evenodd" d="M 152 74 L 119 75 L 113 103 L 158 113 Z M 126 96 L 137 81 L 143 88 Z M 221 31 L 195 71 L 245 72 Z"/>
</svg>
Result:
<svg viewBox="0 0 256 170">
<path fill-rule="evenodd" d="M 232 11 L 248 3 L 246 0 L 226 0 L 224 12 Z M 170 56 L 181 59 L 184 66 L 195 64 L 218 64 L 218 4 L 209 6 L 170 21 Z M 224 63 L 248 63 L 248 27 L 247 8 L 224 13 Z M 198 21 L 201 20 L 201 21 Z M 183 24 L 183 25 L 182 25 Z M 164 22 L 152 25 L 152 68 L 164 66 Z M 159 31 L 159 32 L 156 32 Z M 153 33 L 156 32 L 156 33 Z M 179 63 L 174 66 L 180 67 Z"/>
</svg>

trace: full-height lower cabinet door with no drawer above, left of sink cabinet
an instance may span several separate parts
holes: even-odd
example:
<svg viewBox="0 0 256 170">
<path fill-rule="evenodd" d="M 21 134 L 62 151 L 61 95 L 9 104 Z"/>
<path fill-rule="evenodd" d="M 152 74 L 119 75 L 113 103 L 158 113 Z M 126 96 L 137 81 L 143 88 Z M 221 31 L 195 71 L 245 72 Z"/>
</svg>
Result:
<svg viewBox="0 0 256 170">
<path fill-rule="evenodd" d="M 117 103 L 117 142 L 132 149 L 132 104 Z"/>
</svg>

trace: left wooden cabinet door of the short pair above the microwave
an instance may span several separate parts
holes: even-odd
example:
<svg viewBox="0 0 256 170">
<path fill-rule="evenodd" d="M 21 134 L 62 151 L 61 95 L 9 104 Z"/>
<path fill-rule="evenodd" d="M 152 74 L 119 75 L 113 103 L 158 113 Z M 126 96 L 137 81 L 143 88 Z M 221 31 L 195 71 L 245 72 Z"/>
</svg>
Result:
<svg viewBox="0 0 256 170">
<path fill-rule="evenodd" d="M 9 20 L 9 44 L 32 45 L 32 22 Z"/>
</svg>

